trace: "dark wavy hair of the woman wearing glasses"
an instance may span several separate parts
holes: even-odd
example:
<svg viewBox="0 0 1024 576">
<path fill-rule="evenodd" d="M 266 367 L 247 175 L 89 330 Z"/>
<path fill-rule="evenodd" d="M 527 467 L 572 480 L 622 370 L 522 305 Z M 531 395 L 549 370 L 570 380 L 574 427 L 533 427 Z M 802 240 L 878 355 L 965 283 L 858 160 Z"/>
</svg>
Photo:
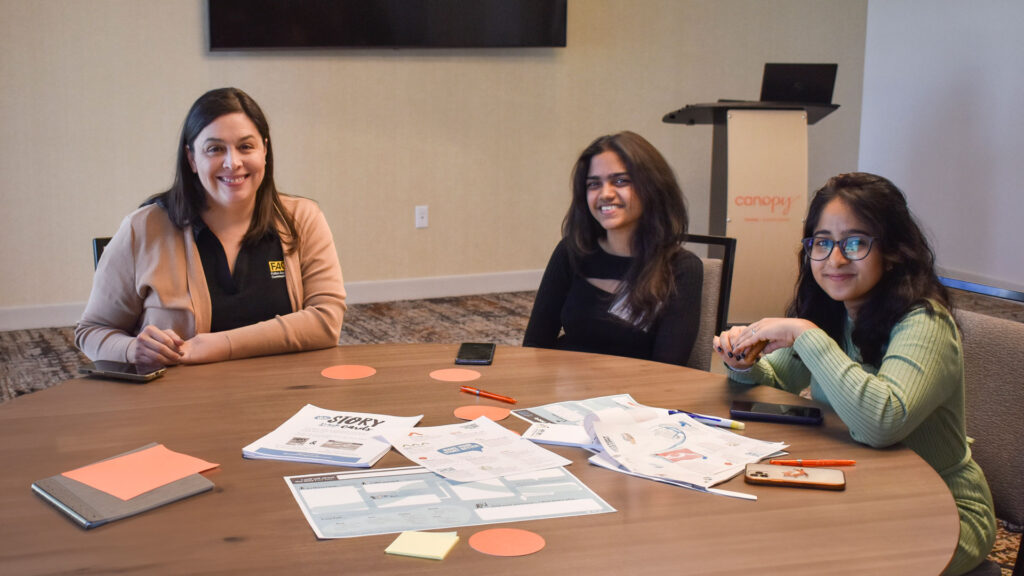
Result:
<svg viewBox="0 0 1024 576">
<path fill-rule="evenodd" d="M 821 212 L 833 200 L 843 201 L 876 238 L 885 272 L 857 311 L 853 343 L 864 362 L 878 366 L 893 326 L 914 307 L 934 313 L 932 302 L 952 310 L 949 292 L 935 274 L 935 253 L 910 213 L 906 198 L 888 179 L 865 172 L 834 176 L 814 193 L 804 222 L 804 238 L 814 235 Z M 800 252 L 797 292 L 786 316 L 804 318 L 842 341 L 846 307 L 828 297 L 811 273 L 811 260 Z"/>
</svg>

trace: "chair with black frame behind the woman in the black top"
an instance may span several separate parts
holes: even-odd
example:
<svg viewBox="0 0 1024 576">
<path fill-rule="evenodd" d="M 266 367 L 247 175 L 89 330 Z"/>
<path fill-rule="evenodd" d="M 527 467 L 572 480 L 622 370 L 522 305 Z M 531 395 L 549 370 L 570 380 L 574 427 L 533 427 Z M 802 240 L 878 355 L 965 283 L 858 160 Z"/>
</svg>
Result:
<svg viewBox="0 0 1024 576">
<path fill-rule="evenodd" d="M 687 244 L 708 244 L 709 257 L 703 262 L 703 285 L 700 290 L 700 324 L 693 352 L 686 366 L 697 370 L 711 370 L 712 338 L 725 330 L 729 317 L 729 294 L 732 291 L 732 264 L 736 256 L 736 239 L 722 236 L 691 234 Z M 715 252 L 721 257 L 713 257 Z"/>
</svg>

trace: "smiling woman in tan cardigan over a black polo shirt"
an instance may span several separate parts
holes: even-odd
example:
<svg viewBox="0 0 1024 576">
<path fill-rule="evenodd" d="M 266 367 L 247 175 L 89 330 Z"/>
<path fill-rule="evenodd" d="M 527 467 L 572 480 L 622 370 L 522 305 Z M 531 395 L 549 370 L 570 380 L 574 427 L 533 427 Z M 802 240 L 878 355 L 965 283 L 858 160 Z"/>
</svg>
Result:
<svg viewBox="0 0 1024 576">
<path fill-rule="evenodd" d="M 174 184 L 103 251 L 75 342 L 92 360 L 218 362 L 336 345 L 344 312 L 324 214 L 278 192 L 266 118 L 221 88 L 185 118 Z"/>
</svg>

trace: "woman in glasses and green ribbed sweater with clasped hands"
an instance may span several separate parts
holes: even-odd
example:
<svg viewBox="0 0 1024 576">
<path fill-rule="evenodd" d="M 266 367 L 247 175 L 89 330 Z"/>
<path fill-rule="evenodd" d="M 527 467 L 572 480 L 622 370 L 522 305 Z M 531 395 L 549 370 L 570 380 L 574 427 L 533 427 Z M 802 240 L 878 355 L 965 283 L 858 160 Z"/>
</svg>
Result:
<svg viewBox="0 0 1024 576">
<path fill-rule="evenodd" d="M 786 318 L 733 327 L 715 348 L 731 379 L 809 385 L 857 442 L 902 443 L 931 464 L 961 519 L 946 574 L 963 574 L 991 549 L 995 516 L 968 447 L 964 356 L 935 255 L 899 189 L 866 173 L 840 174 L 815 193 L 804 237 Z"/>
</svg>

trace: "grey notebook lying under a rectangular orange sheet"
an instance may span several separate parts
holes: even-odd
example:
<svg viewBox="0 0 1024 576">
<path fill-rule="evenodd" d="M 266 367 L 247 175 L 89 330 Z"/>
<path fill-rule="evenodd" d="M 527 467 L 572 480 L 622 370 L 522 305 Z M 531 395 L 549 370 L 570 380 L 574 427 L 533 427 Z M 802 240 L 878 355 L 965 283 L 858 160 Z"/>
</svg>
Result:
<svg viewBox="0 0 1024 576">
<path fill-rule="evenodd" d="M 144 450 L 152 446 L 156 445 L 147 444 L 125 452 L 125 454 Z M 83 528 L 95 528 L 211 489 L 213 489 L 213 483 L 198 474 L 165 484 L 128 500 L 122 500 L 62 475 L 51 476 L 32 485 L 32 490 L 36 494 L 56 506 Z"/>
</svg>

